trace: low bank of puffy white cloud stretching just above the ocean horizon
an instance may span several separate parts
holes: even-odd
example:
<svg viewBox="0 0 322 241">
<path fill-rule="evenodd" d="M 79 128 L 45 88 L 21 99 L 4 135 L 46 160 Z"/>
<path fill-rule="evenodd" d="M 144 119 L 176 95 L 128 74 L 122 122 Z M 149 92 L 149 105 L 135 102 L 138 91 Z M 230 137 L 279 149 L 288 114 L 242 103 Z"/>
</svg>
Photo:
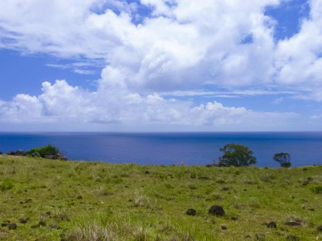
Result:
<svg viewBox="0 0 322 241">
<path fill-rule="evenodd" d="M 101 85 L 105 85 L 104 80 Z M 110 85 L 109 85 L 110 86 Z M 122 86 L 99 88 L 89 92 L 56 81 L 44 82 L 39 96 L 19 94 L 10 102 L 0 103 L 1 122 L 120 123 L 123 125 L 208 126 L 217 129 L 241 125 L 263 128 L 263 121 L 274 120 L 274 127 L 296 116 L 293 113 L 254 112 L 245 107 L 225 107 L 209 102 L 194 105 L 190 101 L 166 99 L 159 94 L 130 92 Z M 267 123 L 266 123 L 267 124 Z M 265 128 L 268 128 L 266 125 Z"/>
</svg>

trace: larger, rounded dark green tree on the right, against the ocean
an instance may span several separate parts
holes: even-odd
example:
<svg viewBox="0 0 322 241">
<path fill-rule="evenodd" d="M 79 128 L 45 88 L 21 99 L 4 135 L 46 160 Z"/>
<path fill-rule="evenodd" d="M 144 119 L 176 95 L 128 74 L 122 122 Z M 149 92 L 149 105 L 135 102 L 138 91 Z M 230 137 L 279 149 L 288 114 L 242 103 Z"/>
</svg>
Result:
<svg viewBox="0 0 322 241">
<path fill-rule="evenodd" d="M 254 153 L 243 145 L 230 143 L 220 149 L 223 156 L 219 158 L 219 166 L 248 166 L 256 163 Z"/>
</svg>

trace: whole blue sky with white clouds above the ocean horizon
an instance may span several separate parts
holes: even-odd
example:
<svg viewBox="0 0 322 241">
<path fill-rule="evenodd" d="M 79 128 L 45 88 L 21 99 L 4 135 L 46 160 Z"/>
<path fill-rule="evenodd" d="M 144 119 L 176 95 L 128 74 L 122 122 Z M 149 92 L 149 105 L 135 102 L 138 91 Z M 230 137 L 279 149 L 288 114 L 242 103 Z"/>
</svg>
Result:
<svg viewBox="0 0 322 241">
<path fill-rule="evenodd" d="M 322 0 L 2 0 L 0 131 L 322 131 Z"/>
</svg>

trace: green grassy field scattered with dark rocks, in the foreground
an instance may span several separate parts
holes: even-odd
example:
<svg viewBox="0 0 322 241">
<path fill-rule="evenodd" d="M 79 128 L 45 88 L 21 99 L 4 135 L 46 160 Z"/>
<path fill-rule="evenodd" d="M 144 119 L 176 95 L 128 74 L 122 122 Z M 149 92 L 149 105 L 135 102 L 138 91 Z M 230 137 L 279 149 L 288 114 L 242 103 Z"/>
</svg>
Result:
<svg viewBox="0 0 322 241">
<path fill-rule="evenodd" d="M 0 222 L 17 224 L 0 227 L 0 240 L 254 240 L 256 233 L 265 240 L 322 240 L 316 230 L 321 185 L 322 166 L 140 166 L 0 156 Z M 225 216 L 208 214 L 212 205 L 223 206 Z M 186 214 L 190 208 L 196 216 Z M 303 225 L 285 225 L 294 220 Z M 265 225 L 271 221 L 276 229 Z"/>
</svg>

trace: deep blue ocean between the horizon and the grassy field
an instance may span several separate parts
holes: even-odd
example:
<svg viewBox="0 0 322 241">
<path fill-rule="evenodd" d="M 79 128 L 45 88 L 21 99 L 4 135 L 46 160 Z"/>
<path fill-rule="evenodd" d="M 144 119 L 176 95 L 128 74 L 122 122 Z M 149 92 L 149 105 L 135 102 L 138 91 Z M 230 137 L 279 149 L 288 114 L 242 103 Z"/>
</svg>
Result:
<svg viewBox="0 0 322 241">
<path fill-rule="evenodd" d="M 228 143 L 247 145 L 257 166 L 277 167 L 277 152 L 288 152 L 292 166 L 322 165 L 322 132 L 214 133 L 0 133 L 0 151 L 52 144 L 69 160 L 141 165 L 207 165 Z"/>
</svg>

